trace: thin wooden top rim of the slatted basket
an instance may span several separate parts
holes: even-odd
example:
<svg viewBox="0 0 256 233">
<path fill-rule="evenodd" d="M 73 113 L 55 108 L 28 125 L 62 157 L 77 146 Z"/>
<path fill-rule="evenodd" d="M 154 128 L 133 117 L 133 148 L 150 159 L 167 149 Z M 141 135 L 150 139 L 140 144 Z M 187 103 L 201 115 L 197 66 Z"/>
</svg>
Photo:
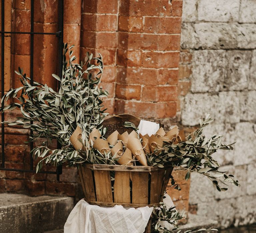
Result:
<svg viewBox="0 0 256 233">
<path fill-rule="evenodd" d="M 164 167 L 157 166 L 124 166 L 124 165 L 108 165 L 108 164 L 89 164 L 89 163 L 80 163 L 80 166 L 88 167 L 92 170 L 107 170 L 107 171 L 145 171 L 150 172 L 154 170 L 162 170 L 173 167 L 171 165 Z"/>
</svg>

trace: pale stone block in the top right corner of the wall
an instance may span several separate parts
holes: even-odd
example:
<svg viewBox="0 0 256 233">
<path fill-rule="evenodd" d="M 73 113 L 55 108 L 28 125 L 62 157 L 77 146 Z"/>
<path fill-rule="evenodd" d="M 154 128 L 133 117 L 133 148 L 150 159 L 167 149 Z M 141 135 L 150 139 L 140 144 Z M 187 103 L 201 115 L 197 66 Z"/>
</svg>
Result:
<svg viewBox="0 0 256 233">
<path fill-rule="evenodd" d="M 239 11 L 240 23 L 255 23 L 256 22 L 256 1 L 255 0 L 241 0 Z"/>
</svg>

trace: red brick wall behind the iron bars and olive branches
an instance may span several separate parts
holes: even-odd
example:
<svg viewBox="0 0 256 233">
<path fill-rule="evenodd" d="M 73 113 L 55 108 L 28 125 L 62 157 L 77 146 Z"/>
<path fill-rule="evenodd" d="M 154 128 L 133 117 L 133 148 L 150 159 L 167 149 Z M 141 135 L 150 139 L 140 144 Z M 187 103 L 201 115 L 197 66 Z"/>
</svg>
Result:
<svg viewBox="0 0 256 233">
<path fill-rule="evenodd" d="M 78 59 L 87 51 L 104 58 L 102 87 L 109 91 L 108 112 L 175 122 L 178 95 L 186 85 L 178 84 L 182 0 L 65 0 L 64 4 L 64 41 L 76 45 Z M 8 0 L 5 5 L 6 30 L 30 31 L 30 1 Z M 34 22 L 35 31 L 56 32 L 57 1 L 35 1 Z M 55 87 L 51 74 L 57 71 L 57 38 L 35 35 L 34 45 L 34 79 Z M 18 66 L 29 74 L 30 36 L 6 35 L 5 58 L 8 91 L 20 86 L 14 74 Z M 23 143 L 28 130 L 5 130 L 6 167 L 28 169 L 29 148 Z M 8 171 L 0 171 L 0 178 L 2 192 L 75 196 L 79 189 L 75 168 L 64 167 L 60 182 L 55 175 Z"/>
</svg>

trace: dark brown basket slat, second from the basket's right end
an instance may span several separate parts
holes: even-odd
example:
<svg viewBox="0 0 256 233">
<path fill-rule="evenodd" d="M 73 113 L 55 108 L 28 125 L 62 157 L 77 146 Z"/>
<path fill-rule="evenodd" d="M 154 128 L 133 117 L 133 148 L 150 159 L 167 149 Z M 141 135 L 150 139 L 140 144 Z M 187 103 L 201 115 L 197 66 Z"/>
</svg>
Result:
<svg viewBox="0 0 256 233">
<path fill-rule="evenodd" d="M 159 202 L 162 185 L 164 181 L 165 170 L 151 171 L 151 183 L 150 183 L 150 203 Z"/>
</svg>

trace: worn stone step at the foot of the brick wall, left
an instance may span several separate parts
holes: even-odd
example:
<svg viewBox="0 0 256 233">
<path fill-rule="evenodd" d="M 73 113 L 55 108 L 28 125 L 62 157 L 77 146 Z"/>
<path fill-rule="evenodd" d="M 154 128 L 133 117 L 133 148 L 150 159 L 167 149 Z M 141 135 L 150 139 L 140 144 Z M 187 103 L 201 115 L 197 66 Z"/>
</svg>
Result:
<svg viewBox="0 0 256 233">
<path fill-rule="evenodd" d="M 71 197 L 29 197 L 23 194 L 1 193 L 0 232 L 41 233 L 56 229 L 62 229 L 63 232 L 73 207 L 74 200 Z"/>
</svg>

